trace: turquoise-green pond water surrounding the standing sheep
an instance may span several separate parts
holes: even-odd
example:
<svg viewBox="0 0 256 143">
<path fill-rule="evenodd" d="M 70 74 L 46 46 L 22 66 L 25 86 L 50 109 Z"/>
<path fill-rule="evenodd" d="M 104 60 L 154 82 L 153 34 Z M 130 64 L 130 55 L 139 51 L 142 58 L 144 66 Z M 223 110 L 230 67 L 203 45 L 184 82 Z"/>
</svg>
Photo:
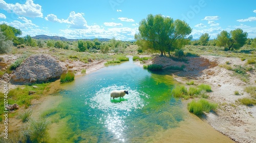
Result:
<svg viewBox="0 0 256 143">
<path fill-rule="evenodd" d="M 57 133 L 50 132 L 55 134 L 52 141 L 147 142 L 156 132 L 183 121 L 181 101 L 169 95 L 172 77 L 151 73 L 132 59 L 63 86 L 65 90 L 56 93 L 63 101 L 52 116 L 57 118 Z M 129 90 L 129 94 L 121 100 L 110 99 L 116 89 Z"/>
</svg>

